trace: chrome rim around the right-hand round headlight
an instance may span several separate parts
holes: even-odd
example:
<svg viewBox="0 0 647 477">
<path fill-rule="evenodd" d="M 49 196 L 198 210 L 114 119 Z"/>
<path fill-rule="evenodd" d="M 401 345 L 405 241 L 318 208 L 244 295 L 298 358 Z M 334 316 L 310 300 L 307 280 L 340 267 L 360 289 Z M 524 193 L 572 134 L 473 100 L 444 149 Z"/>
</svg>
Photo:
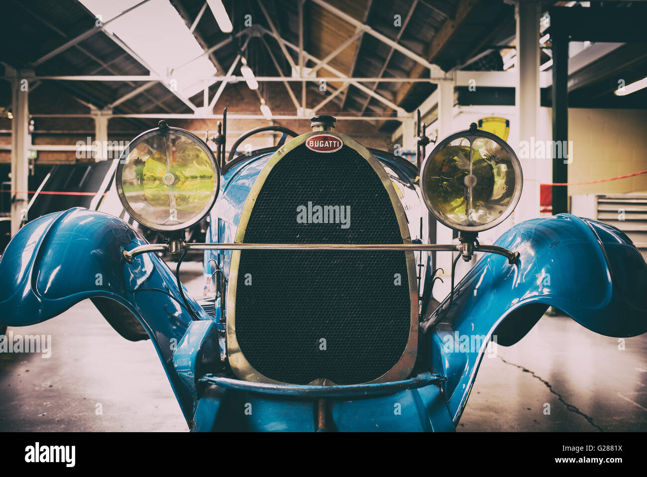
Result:
<svg viewBox="0 0 647 477">
<path fill-rule="evenodd" d="M 444 148 L 444 146 L 447 146 L 450 144 L 452 141 L 456 139 L 467 139 L 470 142 L 470 148 L 472 147 L 472 144 L 474 144 L 474 141 L 477 139 L 489 139 L 503 149 L 507 155 L 510 157 L 510 162 L 512 163 L 512 167 L 514 168 L 514 193 L 512 194 L 512 200 L 510 201 L 509 206 L 505 209 L 505 213 L 501 214 L 501 216 L 497 217 L 493 221 L 490 221 L 488 223 L 482 224 L 482 225 L 461 225 L 459 223 L 452 222 L 448 220 L 446 217 L 443 216 L 443 214 L 437 212 L 435 210 L 435 207 L 433 206 L 432 202 L 429 200 L 430 194 L 433 195 L 433 191 L 429 190 L 428 187 L 425 185 L 426 181 L 424 180 L 428 168 L 430 167 L 432 159 L 435 157 L 435 155 Z M 470 161 L 472 161 L 472 158 L 470 157 Z M 420 168 L 420 175 L 419 175 L 419 185 L 420 185 L 420 190 L 421 190 L 421 195 L 422 195 L 422 201 L 424 201 L 424 205 L 428 208 L 428 210 L 431 212 L 431 214 L 443 225 L 446 227 L 452 228 L 453 230 L 459 230 L 460 232 L 466 232 L 466 233 L 477 233 L 477 232 L 483 232 L 485 230 L 489 230 L 490 228 L 496 227 L 499 225 L 501 222 L 505 221 L 508 217 L 510 217 L 510 214 L 514 212 L 514 208 L 517 206 L 519 203 L 519 199 L 521 198 L 521 190 L 523 189 L 523 171 L 521 170 L 521 162 L 519 161 L 519 158 L 517 157 L 516 153 L 510 145 L 500 137 L 498 137 L 496 134 L 489 133 L 488 131 L 483 131 L 482 129 L 477 129 L 476 123 L 472 123 L 469 129 L 465 129 L 464 131 L 457 131 L 453 134 L 450 134 L 448 137 L 445 139 L 441 140 L 438 144 L 435 145 L 431 153 L 424 159 L 422 162 L 422 166 Z"/>
</svg>

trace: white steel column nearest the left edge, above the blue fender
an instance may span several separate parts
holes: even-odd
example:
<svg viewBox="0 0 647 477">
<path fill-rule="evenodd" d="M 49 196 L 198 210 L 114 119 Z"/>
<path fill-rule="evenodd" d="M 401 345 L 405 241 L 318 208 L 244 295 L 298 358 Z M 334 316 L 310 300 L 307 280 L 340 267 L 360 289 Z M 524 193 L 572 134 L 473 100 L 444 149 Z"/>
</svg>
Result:
<svg viewBox="0 0 647 477">
<path fill-rule="evenodd" d="M 21 221 L 26 219 L 28 205 L 29 160 L 29 78 L 25 72 L 18 74 L 7 68 L 12 80 L 12 113 L 11 122 L 11 235 L 20 228 Z"/>
</svg>

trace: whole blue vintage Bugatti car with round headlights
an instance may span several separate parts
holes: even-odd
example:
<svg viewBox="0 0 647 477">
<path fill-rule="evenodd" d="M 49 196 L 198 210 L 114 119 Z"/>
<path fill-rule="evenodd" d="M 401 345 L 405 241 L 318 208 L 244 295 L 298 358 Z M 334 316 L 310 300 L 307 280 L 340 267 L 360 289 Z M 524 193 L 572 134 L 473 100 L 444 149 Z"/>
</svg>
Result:
<svg viewBox="0 0 647 477">
<path fill-rule="evenodd" d="M 236 155 L 251 131 L 230 161 L 222 135 L 217 155 L 163 122 L 138 136 L 111 194 L 164 243 L 104 212 L 39 217 L 0 261 L 0 325 L 91 299 L 124 338 L 152 340 L 195 431 L 453 431 L 492 340 L 514 344 L 549 306 L 603 335 L 647 331 L 647 265 L 620 230 L 560 214 L 479 243 L 523 177 L 476 125 L 419 165 L 330 116 L 278 130 L 278 147 Z M 188 243 L 204 217 L 206 243 Z M 459 244 L 430 243 L 433 221 Z M 189 250 L 204 251 L 204 300 L 179 282 Z M 432 258 L 446 251 L 485 253 L 438 304 Z"/>
</svg>

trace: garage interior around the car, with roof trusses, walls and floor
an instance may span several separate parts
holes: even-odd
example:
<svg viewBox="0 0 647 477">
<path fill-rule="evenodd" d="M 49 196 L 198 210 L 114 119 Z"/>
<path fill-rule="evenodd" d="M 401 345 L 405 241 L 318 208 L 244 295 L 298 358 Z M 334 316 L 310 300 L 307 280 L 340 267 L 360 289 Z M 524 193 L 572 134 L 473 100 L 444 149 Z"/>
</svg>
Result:
<svg viewBox="0 0 647 477">
<path fill-rule="evenodd" d="M 100 203 L 114 159 L 160 120 L 215 151 L 226 108 L 225 156 L 245 131 L 304 133 L 315 115 L 414 164 L 420 122 L 426 153 L 471 123 L 497 128 L 520 158 L 523 194 L 481 242 L 569 212 L 619 228 L 647 260 L 647 3 L 8 0 L 3 10 L 0 250 L 32 219 Z M 280 138 L 261 132 L 237 151 Z M 535 147 L 562 142 L 566 160 Z M 437 223 L 435 241 L 458 235 Z M 454 257 L 435 255 L 438 302 Z M 472 266 L 459 261 L 457 280 Z M 202 296 L 201 258 L 182 265 L 182 281 Z M 151 343 L 124 340 L 89 300 L 9 330 L 51 335 L 55 348 L 49 359 L 0 353 L 1 431 L 187 430 Z M 605 337 L 551 308 L 483 359 L 457 430 L 645 431 L 646 357 L 647 335 Z"/>
</svg>

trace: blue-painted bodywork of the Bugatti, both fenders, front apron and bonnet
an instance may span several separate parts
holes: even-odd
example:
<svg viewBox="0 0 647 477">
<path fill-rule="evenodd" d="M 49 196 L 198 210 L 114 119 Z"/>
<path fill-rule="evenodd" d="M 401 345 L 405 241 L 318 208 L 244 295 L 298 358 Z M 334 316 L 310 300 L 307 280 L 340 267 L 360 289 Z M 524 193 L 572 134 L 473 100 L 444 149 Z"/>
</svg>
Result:
<svg viewBox="0 0 647 477">
<path fill-rule="evenodd" d="M 208 240 L 234 241 L 243 203 L 268 158 L 259 155 L 226 171 Z M 408 188 L 406 173 L 397 168 L 391 164 L 389 173 Z M 488 341 L 496 336 L 498 344 L 514 344 L 549 305 L 604 335 L 647 331 L 647 265 L 631 241 L 603 223 L 560 214 L 512 227 L 496 245 L 520 252 L 519 260 L 509 265 L 485 254 L 452 298 L 421 323 L 409 379 L 349 386 L 250 383 L 226 373 L 218 316 L 188 295 L 184 303 L 164 261 L 153 253 L 133 263 L 124 259 L 124 250 L 145 243 L 124 221 L 82 208 L 28 223 L 0 261 L 0 325 L 43 322 L 92 299 L 124 337 L 151 339 L 192 430 L 313 431 L 325 399 L 329 430 L 450 431 Z M 229 257 L 208 252 L 206 265 L 214 258 L 228 274 Z M 480 341 L 476 348 L 449 346 L 463 336 Z"/>
</svg>

